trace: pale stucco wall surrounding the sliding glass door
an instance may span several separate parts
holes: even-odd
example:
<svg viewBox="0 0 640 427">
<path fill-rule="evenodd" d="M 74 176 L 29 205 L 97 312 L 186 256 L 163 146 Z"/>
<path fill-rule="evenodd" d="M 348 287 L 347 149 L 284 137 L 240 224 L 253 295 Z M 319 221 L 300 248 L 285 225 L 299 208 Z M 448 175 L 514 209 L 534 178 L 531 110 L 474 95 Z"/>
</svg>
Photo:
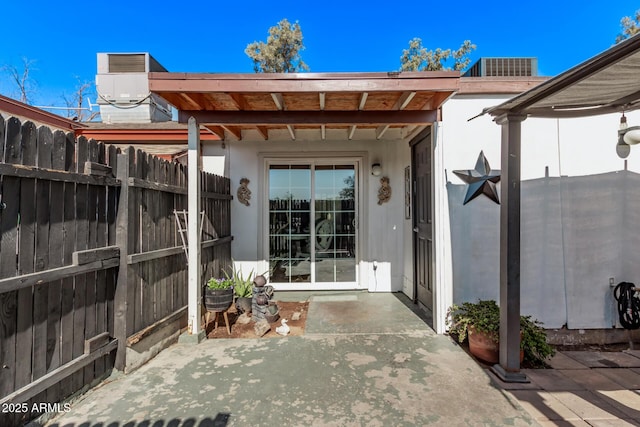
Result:
<svg viewBox="0 0 640 427">
<path fill-rule="evenodd" d="M 245 273 L 265 272 L 268 261 L 265 248 L 265 207 L 268 197 L 265 184 L 265 159 L 353 157 L 361 159 L 361 207 L 359 211 L 358 286 L 372 292 L 401 291 L 405 283 L 404 263 L 407 257 L 404 227 L 404 167 L 409 165 L 410 149 L 401 141 L 378 141 L 375 138 L 349 141 L 346 133 L 318 140 L 319 134 L 299 133 L 296 141 L 249 140 L 211 143 L 203 147 L 203 168 L 231 179 L 232 256 Z M 382 175 L 390 178 L 392 197 L 378 205 L 379 178 L 371 175 L 371 164 L 381 163 Z M 241 178 L 250 180 L 250 206 L 242 205 L 235 195 Z M 410 221 L 410 220 L 409 220 Z M 410 246 L 409 246 L 410 250 Z M 408 256 L 410 258 L 410 255 Z M 377 269 L 373 269 L 376 261 Z M 304 289 L 305 285 L 300 286 Z M 278 285 L 275 285 L 278 289 Z M 286 286 L 280 285 L 280 288 Z"/>
</svg>

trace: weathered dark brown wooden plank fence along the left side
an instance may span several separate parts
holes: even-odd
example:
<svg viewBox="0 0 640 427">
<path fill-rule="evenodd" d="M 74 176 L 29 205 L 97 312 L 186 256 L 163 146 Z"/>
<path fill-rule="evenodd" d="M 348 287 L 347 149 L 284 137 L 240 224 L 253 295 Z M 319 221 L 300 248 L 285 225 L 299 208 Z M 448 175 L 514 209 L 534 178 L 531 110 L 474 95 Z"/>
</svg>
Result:
<svg viewBox="0 0 640 427">
<path fill-rule="evenodd" d="M 207 277 L 231 263 L 231 196 L 201 179 Z M 0 116 L 0 425 L 124 369 L 186 313 L 186 203 L 182 165 Z"/>
</svg>

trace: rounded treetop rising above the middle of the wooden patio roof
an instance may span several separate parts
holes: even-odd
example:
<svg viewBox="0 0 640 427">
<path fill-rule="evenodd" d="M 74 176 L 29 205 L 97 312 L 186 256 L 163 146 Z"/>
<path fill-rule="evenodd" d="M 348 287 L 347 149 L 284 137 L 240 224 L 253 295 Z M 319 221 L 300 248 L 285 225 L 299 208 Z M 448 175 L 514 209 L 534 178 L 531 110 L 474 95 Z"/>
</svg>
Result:
<svg viewBox="0 0 640 427">
<path fill-rule="evenodd" d="M 300 24 L 291 24 L 285 18 L 269 28 L 266 43 L 250 43 L 244 53 L 253 60 L 256 73 L 295 73 L 309 70 L 300 58 L 303 49 Z"/>
</svg>

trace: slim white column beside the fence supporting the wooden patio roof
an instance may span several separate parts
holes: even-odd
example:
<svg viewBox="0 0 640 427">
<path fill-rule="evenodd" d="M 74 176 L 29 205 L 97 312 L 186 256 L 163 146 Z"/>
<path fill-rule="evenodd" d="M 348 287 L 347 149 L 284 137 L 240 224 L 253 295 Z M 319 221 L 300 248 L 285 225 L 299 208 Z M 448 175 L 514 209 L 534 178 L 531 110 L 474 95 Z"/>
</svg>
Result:
<svg viewBox="0 0 640 427">
<path fill-rule="evenodd" d="M 200 265 L 200 128 L 196 119 L 189 117 L 189 333 L 200 335 L 202 318 L 202 266 Z M 204 331 L 202 331 L 204 332 Z"/>
</svg>

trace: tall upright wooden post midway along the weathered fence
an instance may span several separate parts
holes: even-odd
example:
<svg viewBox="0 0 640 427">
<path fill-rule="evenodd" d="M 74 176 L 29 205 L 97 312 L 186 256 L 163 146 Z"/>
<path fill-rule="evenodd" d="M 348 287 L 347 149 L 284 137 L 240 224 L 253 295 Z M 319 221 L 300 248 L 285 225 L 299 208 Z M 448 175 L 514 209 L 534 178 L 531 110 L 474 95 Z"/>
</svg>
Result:
<svg viewBox="0 0 640 427">
<path fill-rule="evenodd" d="M 120 195 L 118 198 L 118 209 L 116 213 L 116 246 L 120 248 L 120 268 L 118 269 L 118 279 L 114 296 L 114 320 L 113 329 L 115 338 L 118 339 L 118 350 L 114 367 L 119 371 L 124 371 L 127 363 L 127 330 L 129 319 L 129 293 L 127 256 L 129 255 L 129 162 L 131 150 L 118 154 L 117 178 L 120 180 Z"/>
</svg>

